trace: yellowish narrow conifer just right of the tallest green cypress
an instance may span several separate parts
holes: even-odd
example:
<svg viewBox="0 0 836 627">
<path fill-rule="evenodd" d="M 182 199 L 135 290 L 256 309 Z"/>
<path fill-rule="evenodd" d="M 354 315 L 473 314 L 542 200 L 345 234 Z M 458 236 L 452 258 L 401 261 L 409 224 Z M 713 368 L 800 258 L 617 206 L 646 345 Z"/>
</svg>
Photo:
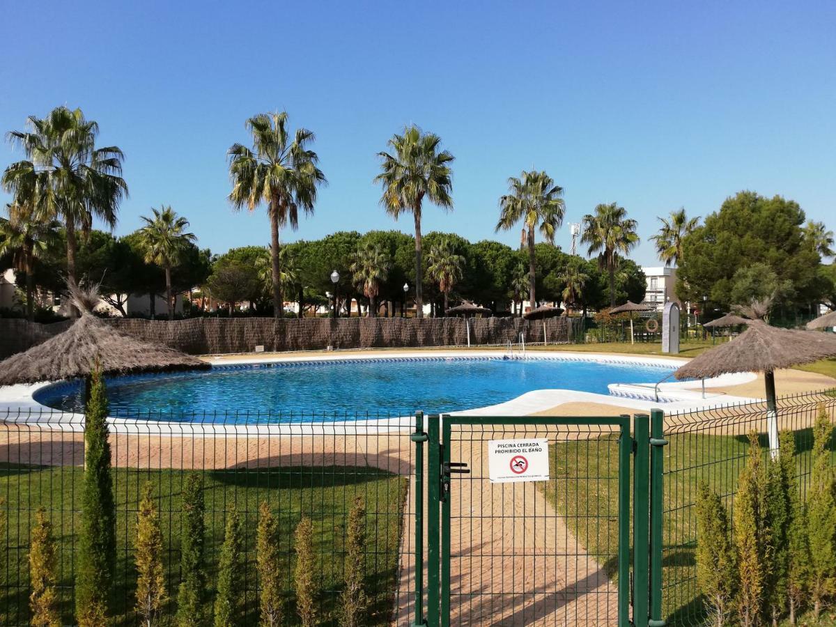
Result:
<svg viewBox="0 0 836 627">
<path fill-rule="evenodd" d="M 166 602 L 166 575 L 162 564 L 160 514 L 151 498 L 151 484 L 145 483 L 136 514 L 136 613 L 144 627 L 159 624 Z"/>
</svg>

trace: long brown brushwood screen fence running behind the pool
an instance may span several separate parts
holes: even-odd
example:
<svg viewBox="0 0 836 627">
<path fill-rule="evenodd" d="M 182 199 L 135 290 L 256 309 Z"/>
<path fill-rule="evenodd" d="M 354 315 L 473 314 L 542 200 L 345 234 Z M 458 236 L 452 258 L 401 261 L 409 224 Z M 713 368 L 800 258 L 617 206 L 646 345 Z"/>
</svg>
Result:
<svg viewBox="0 0 836 627">
<path fill-rule="evenodd" d="M 192 318 L 186 320 L 109 319 L 125 334 L 159 342 L 190 354 L 249 353 L 257 345 L 267 351 L 410 348 L 461 346 L 467 343 L 467 328 L 461 318 Z M 519 318 L 471 319 L 472 344 L 543 342 L 543 321 Z M 71 322 L 29 324 L 24 320 L 0 319 L 0 358 L 28 349 L 61 333 Z M 566 318 L 546 320 L 549 343 L 567 342 L 571 329 Z"/>
</svg>

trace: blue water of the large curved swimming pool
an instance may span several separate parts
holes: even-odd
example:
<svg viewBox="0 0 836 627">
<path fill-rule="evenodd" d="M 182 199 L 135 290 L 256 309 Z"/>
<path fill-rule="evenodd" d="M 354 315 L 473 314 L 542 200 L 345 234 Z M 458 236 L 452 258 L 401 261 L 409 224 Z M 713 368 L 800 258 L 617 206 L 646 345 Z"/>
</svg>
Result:
<svg viewBox="0 0 836 627">
<path fill-rule="evenodd" d="M 608 394 L 607 384 L 655 383 L 671 370 L 565 359 L 351 359 L 122 377 L 107 385 L 111 415 L 165 412 L 163 420 L 321 421 L 362 418 L 365 412 L 473 409 L 531 390 Z M 35 399 L 60 410 L 81 407 L 78 385 L 44 388 Z"/>
</svg>

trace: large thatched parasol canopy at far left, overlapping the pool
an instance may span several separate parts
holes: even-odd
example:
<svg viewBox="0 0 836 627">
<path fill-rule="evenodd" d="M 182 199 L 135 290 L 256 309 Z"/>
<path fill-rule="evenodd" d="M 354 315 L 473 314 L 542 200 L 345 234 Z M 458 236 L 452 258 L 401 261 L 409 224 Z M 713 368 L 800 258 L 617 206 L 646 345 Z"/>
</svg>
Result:
<svg viewBox="0 0 836 627">
<path fill-rule="evenodd" d="M 201 359 L 162 344 L 150 344 L 122 334 L 90 314 L 91 308 L 84 297 L 74 293 L 74 301 L 82 314 L 73 326 L 0 361 L 0 385 L 85 378 L 95 366 L 104 375 L 211 367 Z"/>
</svg>

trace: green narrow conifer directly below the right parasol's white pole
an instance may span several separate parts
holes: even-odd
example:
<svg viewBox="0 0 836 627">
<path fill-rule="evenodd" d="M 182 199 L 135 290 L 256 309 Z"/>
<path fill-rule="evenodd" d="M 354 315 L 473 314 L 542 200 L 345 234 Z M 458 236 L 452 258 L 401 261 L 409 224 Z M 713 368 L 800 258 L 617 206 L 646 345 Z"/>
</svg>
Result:
<svg viewBox="0 0 836 627">
<path fill-rule="evenodd" d="M 767 466 L 767 547 L 769 570 L 765 598 L 773 627 L 787 609 L 789 528 L 792 523 L 793 502 L 790 483 L 794 475 L 795 436 L 782 431 L 778 438 L 778 455 Z"/>
</svg>

